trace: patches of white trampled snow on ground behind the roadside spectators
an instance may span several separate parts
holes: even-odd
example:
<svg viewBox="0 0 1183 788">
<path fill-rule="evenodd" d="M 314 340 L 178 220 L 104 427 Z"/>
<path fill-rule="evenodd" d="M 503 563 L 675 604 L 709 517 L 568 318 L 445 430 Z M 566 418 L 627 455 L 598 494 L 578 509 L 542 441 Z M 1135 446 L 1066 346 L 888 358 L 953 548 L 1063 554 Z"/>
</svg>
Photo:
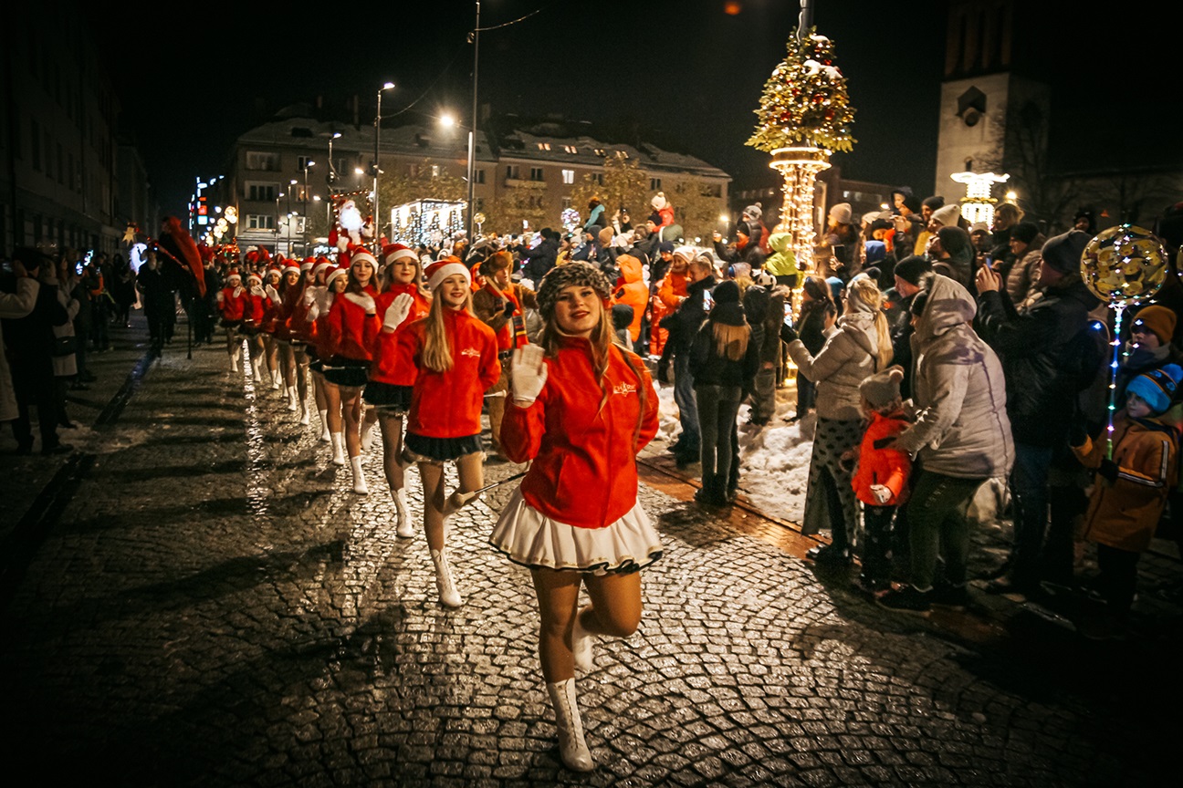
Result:
<svg viewBox="0 0 1183 788">
<path fill-rule="evenodd" d="M 658 441 L 672 442 L 681 432 L 672 385 L 658 385 Z M 803 423 L 787 424 L 796 410 L 796 389 L 776 391 L 776 415 L 763 429 L 746 425 L 750 408 L 739 408 L 739 489 L 757 508 L 769 515 L 801 522 L 804 513 L 813 429 L 809 416 Z"/>
</svg>

